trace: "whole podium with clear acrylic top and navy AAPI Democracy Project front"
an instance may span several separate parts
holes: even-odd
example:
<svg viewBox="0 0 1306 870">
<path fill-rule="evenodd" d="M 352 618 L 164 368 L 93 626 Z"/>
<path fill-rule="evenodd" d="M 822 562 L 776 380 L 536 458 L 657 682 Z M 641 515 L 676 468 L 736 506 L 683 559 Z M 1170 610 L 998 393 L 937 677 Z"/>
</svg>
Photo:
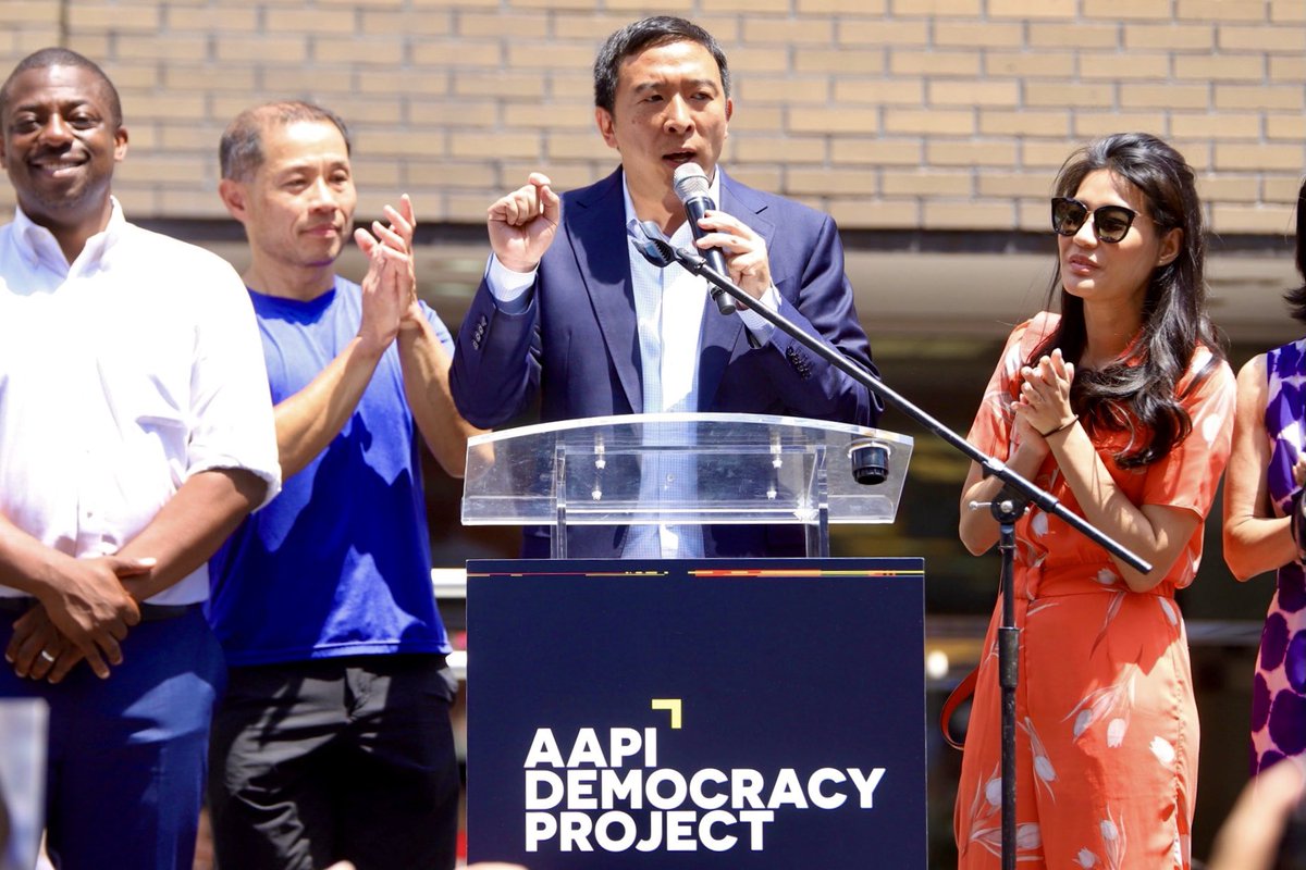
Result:
<svg viewBox="0 0 1306 870">
<path fill-rule="evenodd" d="M 850 453 L 871 445 L 884 476 L 867 485 Z M 925 867 L 925 567 L 829 558 L 828 536 L 892 522 L 910 454 L 889 432 L 725 413 L 473 438 L 462 522 L 554 535 L 552 558 L 468 562 L 469 861 Z M 592 531 L 626 526 L 629 540 L 662 523 L 798 526 L 807 556 L 577 557 Z M 537 751 L 543 734 L 554 760 Z M 575 749 L 631 734 L 656 759 Z M 767 809 L 724 806 L 737 772 L 767 783 Z M 708 780 L 703 800 L 658 787 Z M 852 785 L 872 780 L 874 801 Z M 781 781 L 818 783 L 820 800 L 776 800 Z M 610 801 L 601 783 L 620 785 Z"/>
</svg>

